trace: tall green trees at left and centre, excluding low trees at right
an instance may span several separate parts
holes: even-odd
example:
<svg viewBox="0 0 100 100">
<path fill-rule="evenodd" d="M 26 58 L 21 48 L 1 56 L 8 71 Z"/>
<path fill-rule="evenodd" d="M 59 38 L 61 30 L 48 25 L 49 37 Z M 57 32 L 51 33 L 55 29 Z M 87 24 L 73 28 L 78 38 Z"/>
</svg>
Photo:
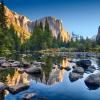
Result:
<svg viewBox="0 0 100 100">
<path fill-rule="evenodd" d="M 61 45 L 64 45 L 61 41 L 60 35 L 58 38 L 54 38 L 52 36 L 47 19 L 45 20 L 45 26 L 42 22 L 35 22 L 35 26 L 29 40 L 21 43 L 21 38 L 22 37 L 17 35 L 13 25 L 10 25 L 10 27 L 7 26 L 4 0 L 2 0 L 0 4 L 0 54 L 5 51 L 26 53 L 27 51 L 58 48 Z"/>
</svg>

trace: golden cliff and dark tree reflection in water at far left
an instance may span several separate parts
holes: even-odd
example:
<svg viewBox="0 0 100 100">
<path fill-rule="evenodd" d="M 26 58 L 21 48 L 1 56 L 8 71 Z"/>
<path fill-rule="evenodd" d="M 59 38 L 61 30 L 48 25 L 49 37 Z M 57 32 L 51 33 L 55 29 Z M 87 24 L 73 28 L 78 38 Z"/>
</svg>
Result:
<svg viewBox="0 0 100 100">
<path fill-rule="evenodd" d="M 18 69 L 6 69 L 0 71 L 0 81 L 8 86 L 15 86 L 19 83 L 28 84 L 28 74 L 18 72 Z"/>
</svg>

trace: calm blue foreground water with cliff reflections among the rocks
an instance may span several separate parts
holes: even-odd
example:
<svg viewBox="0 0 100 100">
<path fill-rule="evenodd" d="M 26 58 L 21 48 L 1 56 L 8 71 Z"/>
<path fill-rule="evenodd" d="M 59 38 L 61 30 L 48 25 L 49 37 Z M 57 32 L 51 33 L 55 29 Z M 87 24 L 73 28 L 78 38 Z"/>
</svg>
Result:
<svg viewBox="0 0 100 100">
<path fill-rule="evenodd" d="M 73 59 L 77 60 L 77 59 Z M 30 83 L 30 88 L 26 91 L 20 92 L 16 95 L 7 93 L 5 100 L 22 100 L 23 95 L 26 92 L 35 92 L 38 98 L 33 100 L 100 100 L 100 88 L 96 90 L 89 89 L 84 79 L 90 75 L 84 73 L 83 78 L 71 82 L 69 79 L 70 71 L 65 69 L 59 70 L 58 66 L 53 69 L 53 64 L 61 64 L 63 67 L 69 66 L 72 69 L 74 63 L 69 63 L 68 58 L 52 59 L 47 58 L 47 66 L 43 67 L 42 75 L 28 75 L 26 73 L 19 74 L 17 70 L 11 71 L 12 74 L 6 76 L 6 84 L 9 86 L 16 85 L 21 82 Z M 92 65 L 98 67 L 97 59 L 91 58 Z M 97 73 L 96 70 L 94 73 Z M 10 73 L 11 73 L 10 72 Z"/>
</svg>

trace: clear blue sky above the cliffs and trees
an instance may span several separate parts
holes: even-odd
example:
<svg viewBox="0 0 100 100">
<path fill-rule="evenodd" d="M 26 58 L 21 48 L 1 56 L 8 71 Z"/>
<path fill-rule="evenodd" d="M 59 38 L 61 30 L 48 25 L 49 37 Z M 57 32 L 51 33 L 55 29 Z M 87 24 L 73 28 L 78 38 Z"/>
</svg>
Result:
<svg viewBox="0 0 100 100">
<path fill-rule="evenodd" d="M 66 31 L 92 37 L 100 25 L 100 0 L 5 0 L 6 6 L 35 20 L 61 19 Z"/>
</svg>

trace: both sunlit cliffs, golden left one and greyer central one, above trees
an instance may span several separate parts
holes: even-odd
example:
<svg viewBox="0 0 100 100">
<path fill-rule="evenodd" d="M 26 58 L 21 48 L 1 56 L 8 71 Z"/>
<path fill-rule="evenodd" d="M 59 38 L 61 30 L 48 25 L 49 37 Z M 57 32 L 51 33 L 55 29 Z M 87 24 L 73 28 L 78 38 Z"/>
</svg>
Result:
<svg viewBox="0 0 100 100">
<path fill-rule="evenodd" d="M 15 31 L 18 33 L 18 36 L 21 37 L 22 42 L 25 42 L 27 39 L 30 38 L 31 33 L 34 29 L 35 22 L 31 21 L 26 16 L 20 15 L 8 9 L 5 6 L 5 13 L 7 16 L 8 26 L 13 25 Z M 61 20 L 56 19 L 55 17 L 44 17 L 37 20 L 37 23 L 42 22 L 43 26 L 45 27 L 45 20 L 49 23 L 49 28 L 51 30 L 52 36 L 55 38 L 60 38 L 64 42 L 70 41 L 70 35 L 66 32 L 62 26 Z"/>
</svg>

